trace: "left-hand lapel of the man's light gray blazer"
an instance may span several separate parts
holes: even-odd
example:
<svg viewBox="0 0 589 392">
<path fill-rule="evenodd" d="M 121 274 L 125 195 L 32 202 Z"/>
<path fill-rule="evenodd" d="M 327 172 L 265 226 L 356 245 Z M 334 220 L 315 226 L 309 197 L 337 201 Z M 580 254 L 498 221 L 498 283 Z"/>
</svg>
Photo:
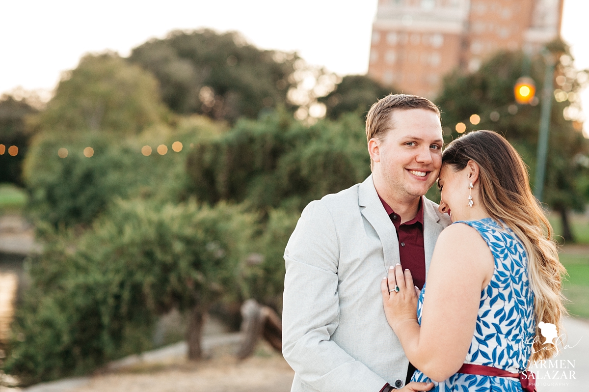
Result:
<svg viewBox="0 0 589 392">
<path fill-rule="evenodd" d="M 376 193 L 374 183 L 372 182 L 372 174 L 360 184 L 358 189 L 358 204 L 360 206 L 360 212 L 378 234 L 385 258 L 384 267 L 388 271 L 389 266 L 400 262 L 399 241 L 395 226 L 391 222 L 391 218 L 386 215 L 385 207 L 383 207 L 378 193 Z"/>
</svg>

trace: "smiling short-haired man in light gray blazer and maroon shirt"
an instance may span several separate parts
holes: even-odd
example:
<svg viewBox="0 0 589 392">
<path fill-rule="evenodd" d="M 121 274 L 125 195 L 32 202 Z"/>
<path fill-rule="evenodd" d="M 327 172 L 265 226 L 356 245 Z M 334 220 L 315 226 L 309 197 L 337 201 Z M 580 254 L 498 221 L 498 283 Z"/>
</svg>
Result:
<svg viewBox="0 0 589 392">
<path fill-rule="evenodd" d="M 380 281 L 396 263 L 425 281 L 448 215 L 425 193 L 438 177 L 438 108 L 415 95 L 388 95 L 366 116 L 372 174 L 303 210 L 286 250 L 284 358 L 292 392 L 385 392 L 413 368 L 389 327 Z M 429 390 L 410 384 L 404 390 Z"/>
</svg>

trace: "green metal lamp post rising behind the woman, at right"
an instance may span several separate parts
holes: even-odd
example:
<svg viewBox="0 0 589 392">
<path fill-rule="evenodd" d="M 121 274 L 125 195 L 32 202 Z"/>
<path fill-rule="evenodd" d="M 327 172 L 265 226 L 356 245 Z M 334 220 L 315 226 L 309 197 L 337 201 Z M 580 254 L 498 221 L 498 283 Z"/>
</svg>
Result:
<svg viewBox="0 0 589 392">
<path fill-rule="evenodd" d="M 548 154 L 548 134 L 550 133 L 550 114 L 552 111 L 552 78 L 554 78 L 555 58 L 548 50 L 543 50 L 542 55 L 546 62 L 544 74 L 544 87 L 542 88 L 542 107 L 540 114 L 540 131 L 538 135 L 538 151 L 536 153 L 535 196 L 542 202 L 544 192 L 544 177 L 546 174 L 546 160 Z"/>
</svg>

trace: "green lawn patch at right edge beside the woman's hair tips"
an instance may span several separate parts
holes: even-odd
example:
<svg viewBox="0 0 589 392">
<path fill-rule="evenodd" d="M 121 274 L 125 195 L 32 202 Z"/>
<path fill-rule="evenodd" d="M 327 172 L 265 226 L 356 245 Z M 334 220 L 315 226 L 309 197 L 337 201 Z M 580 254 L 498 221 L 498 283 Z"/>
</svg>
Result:
<svg viewBox="0 0 589 392">
<path fill-rule="evenodd" d="M 589 246 L 560 253 L 560 261 L 567 268 L 568 276 L 563 293 L 570 303 L 567 309 L 574 317 L 589 319 Z"/>
</svg>

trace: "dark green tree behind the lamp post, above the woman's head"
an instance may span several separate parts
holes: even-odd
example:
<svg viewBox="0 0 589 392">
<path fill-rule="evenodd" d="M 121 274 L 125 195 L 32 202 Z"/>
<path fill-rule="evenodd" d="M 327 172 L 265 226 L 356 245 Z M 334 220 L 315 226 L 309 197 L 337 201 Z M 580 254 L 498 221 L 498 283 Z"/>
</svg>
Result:
<svg viewBox="0 0 589 392">
<path fill-rule="evenodd" d="M 578 91 L 586 83 L 587 74 L 578 73 L 571 67 L 572 60 L 564 43 L 553 42 L 550 50 L 558 57 L 555 81 L 560 88 L 555 90 L 556 96 L 551 97 L 557 101 L 552 106 L 544 194 L 548 206 L 560 212 L 565 241 L 572 241 L 568 211 L 582 210 L 587 200 L 581 187 L 587 171 L 579 162 L 583 161 L 580 157 L 586 157 L 589 152 L 589 140 L 584 139 L 580 123 L 574 121 L 576 118 L 571 113 L 578 113 Z M 533 184 L 540 106 L 537 101 L 533 103 L 535 105 L 515 104 L 513 88 L 522 75 L 522 62 L 521 52 L 502 52 L 473 74 L 457 71 L 445 78 L 436 103 L 443 112 L 446 138 L 459 136 L 455 128 L 459 122 L 467 125 L 467 131 L 491 129 L 504 134 L 530 166 Z M 531 64 L 531 77 L 537 91 L 542 91 L 544 70 L 544 60 L 537 55 Z M 561 91 L 564 99 L 561 99 Z M 471 123 L 473 114 L 479 117 L 472 118 Z"/>
</svg>

